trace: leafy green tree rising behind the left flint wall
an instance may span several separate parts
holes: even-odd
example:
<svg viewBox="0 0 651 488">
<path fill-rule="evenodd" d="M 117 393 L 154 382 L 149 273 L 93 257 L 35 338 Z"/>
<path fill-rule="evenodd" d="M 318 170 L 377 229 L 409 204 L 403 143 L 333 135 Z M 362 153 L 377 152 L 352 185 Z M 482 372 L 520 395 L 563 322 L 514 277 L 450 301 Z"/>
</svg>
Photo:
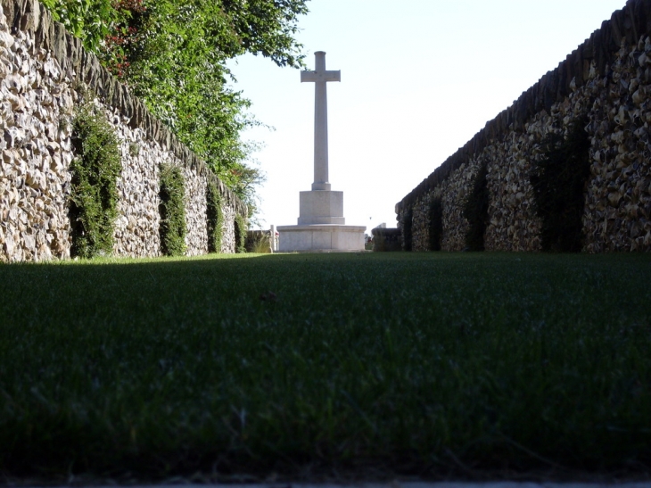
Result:
<svg viewBox="0 0 651 488">
<path fill-rule="evenodd" d="M 302 66 L 295 40 L 308 0 L 45 0 L 111 72 L 246 203 L 264 181 L 247 164 L 257 125 L 226 62 L 261 54 Z"/>
</svg>

